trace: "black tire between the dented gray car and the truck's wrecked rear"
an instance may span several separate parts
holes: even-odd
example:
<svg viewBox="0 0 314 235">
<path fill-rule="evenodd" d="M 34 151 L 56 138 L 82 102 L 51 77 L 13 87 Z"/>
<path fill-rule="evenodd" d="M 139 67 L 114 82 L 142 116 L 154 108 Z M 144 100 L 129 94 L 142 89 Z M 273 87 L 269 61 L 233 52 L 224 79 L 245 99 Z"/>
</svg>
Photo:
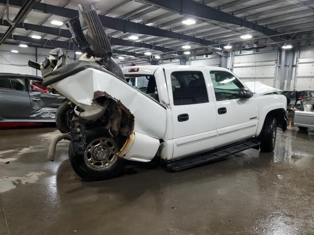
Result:
<svg viewBox="0 0 314 235">
<path fill-rule="evenodd" d="M 69 101 L 63 102 L 55 113 L 55 124 L 61 133 L 69 133 L 74 110 Z"/>
</svg>

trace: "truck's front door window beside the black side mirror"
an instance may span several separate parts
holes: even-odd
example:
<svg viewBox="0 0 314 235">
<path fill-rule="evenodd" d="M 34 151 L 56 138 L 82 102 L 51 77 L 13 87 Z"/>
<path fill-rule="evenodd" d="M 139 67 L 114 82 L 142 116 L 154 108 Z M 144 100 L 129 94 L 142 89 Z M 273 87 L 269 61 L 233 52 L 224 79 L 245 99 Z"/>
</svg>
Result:
<svg viewBox="0 0 314 235">
<path fill-rule="evenodd" d="M 239 89 L 244 86 L 234 75 L 226 71 L 210 71 L 216 100 L 238 99 Z"/>
</svg>

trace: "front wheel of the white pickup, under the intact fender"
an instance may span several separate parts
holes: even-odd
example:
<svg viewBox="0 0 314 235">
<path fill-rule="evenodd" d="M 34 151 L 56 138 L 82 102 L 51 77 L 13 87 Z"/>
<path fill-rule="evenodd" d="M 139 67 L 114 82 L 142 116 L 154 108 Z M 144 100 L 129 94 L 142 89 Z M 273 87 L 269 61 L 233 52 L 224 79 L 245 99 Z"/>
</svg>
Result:
<svg viewBox="0 0 314 235">
<path fill-rule="evenodd" d="M 272 116 L 267 116 L 262 129 L 262 135 L 260 136 L 261 141 L 261 152 L 269 153 L 275 149 L 277 135 L 277 121 Z"/>
</svg>

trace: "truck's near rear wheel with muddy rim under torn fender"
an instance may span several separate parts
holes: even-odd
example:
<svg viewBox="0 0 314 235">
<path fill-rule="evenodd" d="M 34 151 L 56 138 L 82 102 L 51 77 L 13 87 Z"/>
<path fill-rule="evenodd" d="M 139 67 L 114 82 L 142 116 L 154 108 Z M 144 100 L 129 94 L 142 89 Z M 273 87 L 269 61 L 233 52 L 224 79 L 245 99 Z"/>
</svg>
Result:
<svg viewBox="0 0 314 235">
<path fill-rule="evenodd" d="M 69 159 L 74 171 L 82 179 L 107 180 L 122 173 L 124 159 L 116 155 L 118 150 L 115 141 L 107 137 L 99 137 L 89 141 L 85 153 L 81 155 L 74 155 L 70 143 Z"/>
</svg>

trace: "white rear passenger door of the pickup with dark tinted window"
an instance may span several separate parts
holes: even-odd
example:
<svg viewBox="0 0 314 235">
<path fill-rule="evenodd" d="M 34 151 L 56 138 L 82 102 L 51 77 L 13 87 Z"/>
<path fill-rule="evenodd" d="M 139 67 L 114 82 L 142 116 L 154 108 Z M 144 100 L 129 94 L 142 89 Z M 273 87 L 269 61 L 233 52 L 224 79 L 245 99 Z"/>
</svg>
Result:
<svg viewBox="0 0 314 235">
<path fill-rule="evenodd" d="M 173 122 L 173 158 L 214 148 L 217 115 L 203 68 L 165 68 Z"/>
</svg>

